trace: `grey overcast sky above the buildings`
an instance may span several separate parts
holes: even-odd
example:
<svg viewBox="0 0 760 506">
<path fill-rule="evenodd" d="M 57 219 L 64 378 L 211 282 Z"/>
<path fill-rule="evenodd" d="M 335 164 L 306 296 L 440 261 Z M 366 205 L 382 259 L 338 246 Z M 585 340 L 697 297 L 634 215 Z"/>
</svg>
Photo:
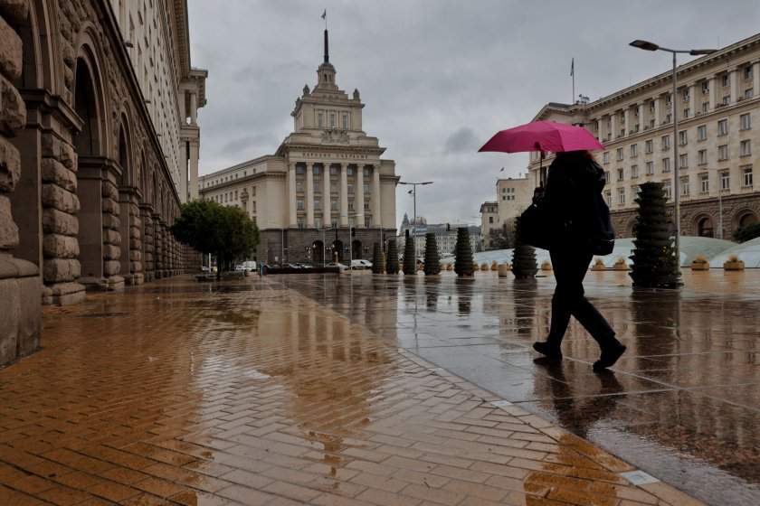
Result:
<svg viewBox="0 0 760 506">
<path fill-rule="evenodd" d="M 479 222 L 496 179 L 527 155 L 478 153 L 497 131 L 547 102 L 595 100 L 671 69 L 674 49 L 721 48 L 758 31 L 757 0 L 188 0 L 191 61 L 208 70 L 200 173 L 273 154 L 323 60 L 323 10 L 337 86 L 359 89 L 364 131 L 418 187 L 429 222 Z M 679 55 L 679 64 L 689 57 Z M 407 187 L 397 222 L 413 216 Z"/>
</svg>

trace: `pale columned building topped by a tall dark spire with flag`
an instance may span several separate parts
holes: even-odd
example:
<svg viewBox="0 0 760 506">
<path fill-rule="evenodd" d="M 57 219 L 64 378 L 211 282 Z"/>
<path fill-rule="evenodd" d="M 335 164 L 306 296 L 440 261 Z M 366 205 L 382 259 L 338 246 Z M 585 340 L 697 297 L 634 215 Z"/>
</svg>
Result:
<svg viewBox="0 0 760 506">
<path fill-rule="evenodd" d="M 314 89 L 304 86 L 290 116 L 293 132 L 274 155 L 204 175 L 200 195 L 247 211 L 261 230 L 263 262 L 372 258 L 375 243 L 395 236 L 393 160 L 362 130 L 359 91 L 336 84 L 325 58 Z"/>
</svg>

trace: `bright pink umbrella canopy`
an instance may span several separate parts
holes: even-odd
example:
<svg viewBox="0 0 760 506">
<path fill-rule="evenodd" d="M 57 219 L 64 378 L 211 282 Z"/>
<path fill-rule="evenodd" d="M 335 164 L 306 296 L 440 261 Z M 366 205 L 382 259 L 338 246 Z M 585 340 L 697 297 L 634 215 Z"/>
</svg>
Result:
<svg viewBox="0 0 760 506">
<path fill-rule="evenodd" d="M 564 125 L 554 121 L 534 121 L 527 125 L 501 130 L 478 151 L 557 153 L 593 149 L 604 149 L 604 146 L 581 126 Z"/>
</svg>

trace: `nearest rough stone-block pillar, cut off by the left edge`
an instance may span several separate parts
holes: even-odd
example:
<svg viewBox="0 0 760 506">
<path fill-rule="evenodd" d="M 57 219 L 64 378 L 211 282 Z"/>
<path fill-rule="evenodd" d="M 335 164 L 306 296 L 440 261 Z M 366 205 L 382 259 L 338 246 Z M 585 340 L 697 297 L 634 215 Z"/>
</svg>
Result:
<svg viewBox="0 0 760 506">
<path fill-rule="evenodd" d="M 26 107 L 12 84 L 21 76 L 22 42 L 8 23 L 24 23 L 28 15 L 26 2 L 15 4 L 0 16 L 0 364 L 35 351 L 41 327 L 40 271 L 11 254 L 19 235 L 9 196 L 21 176 L 21 155 L 8 139 L 24 127 Z"/>
</svg>

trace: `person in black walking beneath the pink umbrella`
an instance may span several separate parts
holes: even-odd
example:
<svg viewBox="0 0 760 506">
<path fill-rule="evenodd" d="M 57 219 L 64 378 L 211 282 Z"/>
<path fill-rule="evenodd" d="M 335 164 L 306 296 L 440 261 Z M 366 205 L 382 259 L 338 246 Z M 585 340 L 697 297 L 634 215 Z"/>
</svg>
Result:
<svg viewBox="0 0 760 506">
<path fill-rule="evenodd" d="M 549 166 L 542 206 L 549 216 L 562 221 L 563 233 L 549 256 L 556 278 L 552 297 L 552 316 L 545 342 L 535 342 L 533 348 L 552 359 L 561 359 L 561 343 L 570 316 L 581 323 L 599 344 L 602 353 L 594 362 L 594 370 L 611 367 L 625 351 L 615 338 L 615 332 L 602 314 L 584 296 L 584 276 L 594 257 L 594 230 L 598 211 L 594 193 L 602 192 L 604 171 L 588 151 L 569 151 L 556 154 Z M 596 227 L 598 228 L 598 227 Z"/>
</svg>

